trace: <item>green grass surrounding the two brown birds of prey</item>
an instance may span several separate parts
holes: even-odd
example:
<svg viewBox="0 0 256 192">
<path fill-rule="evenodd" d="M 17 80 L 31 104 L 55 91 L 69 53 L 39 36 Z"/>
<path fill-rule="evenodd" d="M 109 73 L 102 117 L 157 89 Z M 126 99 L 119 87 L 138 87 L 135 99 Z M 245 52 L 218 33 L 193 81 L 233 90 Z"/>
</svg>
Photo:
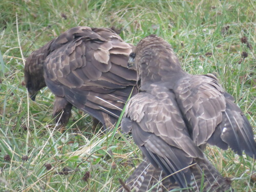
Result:
<svg viewBox="0 0 256 192">
<path fill-rule="evenodd" d="M 0 2 L 0 191 L 115 191 L 142 156 L 132 138 L 91 130 L 74 110 L 54 129 L 54 95 L 30 100 L 24 63 L 35 49 L 75 26 L 114 27 L 132 44 L 157 34 L 191 74 L 214 73 L 255 133 L 255 1 L 6 0 Z M 243 38 L 242 38 L 243 37 Z M 242 39 L 241 39 L 242 38 Z M 120 137 L 119 137 L 120 135 Z M 207 147 L 234 191 L 256 191 L 255 161 Z"/>
</svg>

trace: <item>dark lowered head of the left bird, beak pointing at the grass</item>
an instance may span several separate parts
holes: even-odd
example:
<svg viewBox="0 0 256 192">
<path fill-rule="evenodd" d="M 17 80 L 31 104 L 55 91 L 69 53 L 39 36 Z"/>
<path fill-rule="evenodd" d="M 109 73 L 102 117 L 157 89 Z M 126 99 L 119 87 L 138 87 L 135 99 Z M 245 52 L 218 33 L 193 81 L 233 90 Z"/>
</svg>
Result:
<svg viewBox="0 0 256 192">
<path fill-rule="evenodd" d="M 33 52 L 26 60 L 24 78 L 30 98 L 34 101 L 37 92 L 46 87 L 44 66 L 37 52 Z"/>
</svg>

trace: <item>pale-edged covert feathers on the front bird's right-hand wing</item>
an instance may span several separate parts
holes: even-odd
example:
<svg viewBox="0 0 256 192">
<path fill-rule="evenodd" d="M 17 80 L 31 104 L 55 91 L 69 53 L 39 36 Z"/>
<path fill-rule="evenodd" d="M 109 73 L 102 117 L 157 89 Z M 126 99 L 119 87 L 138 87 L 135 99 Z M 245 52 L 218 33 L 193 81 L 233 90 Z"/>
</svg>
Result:
<svg viewBox="0 0 256 192">
<path fill-rule="evenodd" d="M 187 75 L 174 92 L 194 142 L 198 146 L 206 143 L 225 111 L 223 89 L 212 78 Z"/>
</svg>

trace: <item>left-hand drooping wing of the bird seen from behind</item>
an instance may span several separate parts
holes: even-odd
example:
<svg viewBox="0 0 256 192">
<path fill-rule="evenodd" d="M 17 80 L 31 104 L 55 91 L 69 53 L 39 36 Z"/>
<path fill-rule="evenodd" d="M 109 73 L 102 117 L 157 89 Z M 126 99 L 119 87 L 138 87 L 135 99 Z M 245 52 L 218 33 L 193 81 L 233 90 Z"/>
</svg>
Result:
<svg viewBox="0 0 256 192">
<path fill-rule="evenodd" d="M 131 98 L 122 119 L 122 130 L 126 133 L 131 131 L 148 161 L 160 167 L 166 175 L 173 174 L 169 176 L 170 181 L 185 188 L 190 185 L 193 175 L 203 177 L 203 172 L 208 172 L 191 168 L 206 159 L 189 137 L 175 94 L 158 84 L 152 84 L 149 90 L 151 93 L 142 92 Z M 212 187 L 216 184 L 217 187 L 228 188 L 229 185 L 214 170 L 212 175 L 217 178 L 211 176 L 205 181 L 205 185 L 211 187 L 207 189 L 214 189 Z"/>
</svg>

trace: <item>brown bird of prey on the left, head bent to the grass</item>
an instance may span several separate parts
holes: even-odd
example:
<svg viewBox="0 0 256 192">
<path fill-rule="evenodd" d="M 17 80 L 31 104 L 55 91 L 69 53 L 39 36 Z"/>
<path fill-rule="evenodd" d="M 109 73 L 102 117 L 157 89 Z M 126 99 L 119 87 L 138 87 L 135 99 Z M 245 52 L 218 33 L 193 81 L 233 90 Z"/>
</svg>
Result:
<svg viewBox="0 0 256 192">
<path fill-rule="evenodd" d="M 136 71 L 127 68 L 133 48 L 111 29 L 72 28 L 27 58 L 28 92 L 34 100 L 48 86 L 55 95 L 54 116 L 56 121 L 61 117 L 61 124 L 68 122 L 74 105 L 108 128 L 136 84 Z"/>
</svg>

